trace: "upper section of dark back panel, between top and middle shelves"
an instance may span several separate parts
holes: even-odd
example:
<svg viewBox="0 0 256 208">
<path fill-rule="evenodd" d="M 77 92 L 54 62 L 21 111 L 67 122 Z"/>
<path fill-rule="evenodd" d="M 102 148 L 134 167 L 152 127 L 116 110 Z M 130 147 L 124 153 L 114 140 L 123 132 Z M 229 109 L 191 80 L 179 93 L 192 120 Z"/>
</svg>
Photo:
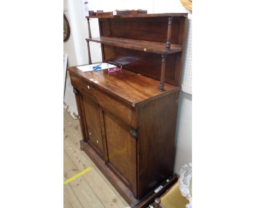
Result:
<svg viewBox="0 0 256 208">
<path fill-rule="evenodd" d="M 180 36 L 184 17 L 173 17 L 172 44 L 183 44 Z M 99 19 L 101 36 L 166 42 L 168 17 Z"/>
</svg>

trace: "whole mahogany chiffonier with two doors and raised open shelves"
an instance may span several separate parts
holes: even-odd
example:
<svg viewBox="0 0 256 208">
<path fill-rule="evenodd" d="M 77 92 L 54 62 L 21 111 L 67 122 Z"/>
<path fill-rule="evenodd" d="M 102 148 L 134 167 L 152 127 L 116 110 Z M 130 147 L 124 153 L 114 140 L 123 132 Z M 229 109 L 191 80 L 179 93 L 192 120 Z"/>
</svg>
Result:
<svg viewBox="0 0 256 208">
<path fill-rule="evenodd" d="M 98 18 L 98 38 L 91 38 L 90 18 Z M 116 74 L 68 68 L 81 149 L 132 207 L 143 207 L 173 178 L 187 13 L 87 19 L 89 64 L 94 41 L 101 44 L 104 63 L 123 68 Z"/>
</svg>

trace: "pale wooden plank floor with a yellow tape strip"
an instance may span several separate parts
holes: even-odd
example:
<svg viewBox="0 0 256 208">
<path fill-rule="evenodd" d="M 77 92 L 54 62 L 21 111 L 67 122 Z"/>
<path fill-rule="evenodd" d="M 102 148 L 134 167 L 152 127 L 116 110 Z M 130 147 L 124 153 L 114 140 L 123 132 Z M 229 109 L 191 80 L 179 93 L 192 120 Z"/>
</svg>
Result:
<svg viewBox="0 0 256 208">
<path fill-rule="evenodd" d="M 92 169 L 64 185 L 64 207 L 130 207 L 84 151 L 79 120 L 64 110 L 64 178 L 71 178 L 85 168 Z"/>
</svg>

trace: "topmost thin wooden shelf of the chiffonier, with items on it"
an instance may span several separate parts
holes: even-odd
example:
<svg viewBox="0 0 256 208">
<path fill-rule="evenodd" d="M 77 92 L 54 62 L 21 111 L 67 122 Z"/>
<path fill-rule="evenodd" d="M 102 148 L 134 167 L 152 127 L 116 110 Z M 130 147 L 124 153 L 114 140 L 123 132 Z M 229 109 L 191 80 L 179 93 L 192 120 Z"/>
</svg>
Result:
<svg viewBox="0 0 256 208">
<path fill-rule="evenodd" d="M 138 14 L 138 15 L 104 15 L 86 16 L 86 18 L 127 18 L 127 17 L 166 17 L 166 16 L 188 16 L 188 13 L 162 13 L 162 14 Z"/>
</svg>

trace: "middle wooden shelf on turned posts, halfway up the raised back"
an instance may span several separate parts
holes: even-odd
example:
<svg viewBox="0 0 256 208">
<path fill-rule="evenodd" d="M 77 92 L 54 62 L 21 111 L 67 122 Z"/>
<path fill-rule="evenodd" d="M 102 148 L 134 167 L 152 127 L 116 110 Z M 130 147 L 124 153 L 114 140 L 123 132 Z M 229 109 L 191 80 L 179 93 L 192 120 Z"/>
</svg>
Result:
<svg viewBox="0 0 256 208">
<path fill-rule="evenodd" d="M 99 38 L 86 38 L 92 42 L 100 42 L 101 44 L 130 48 L 138 51 L 147 51 L 159 54 L 171 54 L 182 51 L 182 46 L 171 44 L 170 50 L 166 50 L 166 44 L 163 42 L 152 42 L 145 40 L 134 40 L 126 38 L 114 38 L 109 36 L 101 36 Z"/>
</svg>

